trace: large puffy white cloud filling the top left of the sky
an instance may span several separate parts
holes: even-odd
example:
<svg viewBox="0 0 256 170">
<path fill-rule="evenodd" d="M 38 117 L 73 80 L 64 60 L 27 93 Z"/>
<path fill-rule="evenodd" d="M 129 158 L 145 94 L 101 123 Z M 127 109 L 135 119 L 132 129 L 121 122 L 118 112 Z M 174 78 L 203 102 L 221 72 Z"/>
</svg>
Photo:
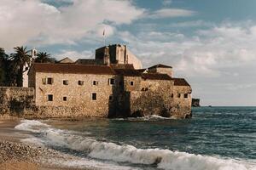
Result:
<svg viewBox="0 0 256 170">
<path fill-rule="evenodd" d="M 114 26 L 131 24 L 144 12 L 143 8 L 135 7 L 131 1 L 70 0 L 70 5 L 59 8 L 50 5 L 49 0 L 44 2 L 0 1 L 0 47 L 75 44 L 88 33 L 98 35 L 102 26 L 111 35 Z"/>
</svg>

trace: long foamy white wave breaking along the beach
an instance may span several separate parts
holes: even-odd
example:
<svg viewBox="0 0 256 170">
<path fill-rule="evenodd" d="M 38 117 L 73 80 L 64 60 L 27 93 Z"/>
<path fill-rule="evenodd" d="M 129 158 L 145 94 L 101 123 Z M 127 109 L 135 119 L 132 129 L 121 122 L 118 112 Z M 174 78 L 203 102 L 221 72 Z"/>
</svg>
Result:
<svg viewBox="0 0 256 170">
<path fill-rule="evenodd" d="M 41 128 L 42 127 L 42 128 Z M 170 170 L 256 170 L 253 162 L 162 149 L 138 149 L 132 145 L 118 145 L 84 138 L 70 131 L 50 127 L 43 122 L 22 121 L 15 128 L 44 134 L 44 140 L 71 150 L 87 153 L 91 158 L 133 164 L 154 165 Z"/>
</svg>

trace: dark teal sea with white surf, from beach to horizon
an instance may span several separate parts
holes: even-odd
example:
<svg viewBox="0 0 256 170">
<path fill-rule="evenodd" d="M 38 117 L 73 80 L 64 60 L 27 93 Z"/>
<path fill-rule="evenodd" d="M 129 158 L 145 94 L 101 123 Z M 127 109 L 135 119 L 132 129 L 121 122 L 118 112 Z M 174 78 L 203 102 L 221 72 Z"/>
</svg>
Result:
<svg viewBox="0 0 256 170">
<path fill-rule="evenodd" d="M 22 142 L 42 144 L 92 169 L 256 170 L 256 107 L 198 107 L 191 119 L 23 120 Z"/>
</svg>

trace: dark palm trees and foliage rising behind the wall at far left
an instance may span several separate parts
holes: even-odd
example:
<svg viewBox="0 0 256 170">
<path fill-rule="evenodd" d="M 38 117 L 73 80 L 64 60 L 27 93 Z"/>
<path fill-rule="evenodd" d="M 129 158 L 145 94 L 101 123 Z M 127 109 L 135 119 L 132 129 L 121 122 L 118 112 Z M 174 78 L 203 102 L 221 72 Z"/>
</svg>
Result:
<svg viewBox="0 0 256 170">
<path fill-rule="evenodd" d="M 55 63 L 55 59 L 50 54 L 39 52 L 36 59 L 32 59 L 31 51 L 26 47 L 16 47 L 14 54 L 6 54 L 3 48 L 0 48 L 0 86 L 22 87 L 23 72 L 28 69 L 26 65 L 32 62 Z"/>
</svg>

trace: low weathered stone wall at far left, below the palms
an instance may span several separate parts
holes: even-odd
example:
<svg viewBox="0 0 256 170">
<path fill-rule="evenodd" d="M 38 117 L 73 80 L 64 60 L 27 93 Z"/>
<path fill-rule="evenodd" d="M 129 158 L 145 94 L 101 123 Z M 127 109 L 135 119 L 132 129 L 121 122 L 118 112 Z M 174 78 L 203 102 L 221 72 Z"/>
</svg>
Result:
<svg viewBox="0 0 256 170">
<path fill-rule="evenodd" d="M 0 114 L 23 114 L 33 107 L 34 101 L 34 88 L 0 88 Z"/>
</svg>

